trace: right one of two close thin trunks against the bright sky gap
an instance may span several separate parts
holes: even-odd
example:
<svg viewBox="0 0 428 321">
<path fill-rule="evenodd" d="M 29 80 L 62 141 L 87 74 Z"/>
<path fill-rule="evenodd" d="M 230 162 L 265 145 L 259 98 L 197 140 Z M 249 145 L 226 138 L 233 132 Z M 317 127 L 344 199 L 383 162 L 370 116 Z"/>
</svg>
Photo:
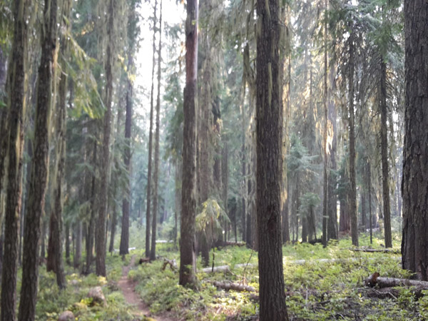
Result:
<svg viewBox="0 0 428 321">
<path fill-rule="evenodd" d="M 156 99 L 156 133 L 155 133 L 155 169 L 153 171 L 153 220 L 150 259 L 156 260 L 156 224 L 158 222 L 159 190 L 159 135 L 161 131 L 161 61 L 162 61 L 162 0 L 159 8 L 159 47 L 158 47 L 158 97 Z"/>
</svg>

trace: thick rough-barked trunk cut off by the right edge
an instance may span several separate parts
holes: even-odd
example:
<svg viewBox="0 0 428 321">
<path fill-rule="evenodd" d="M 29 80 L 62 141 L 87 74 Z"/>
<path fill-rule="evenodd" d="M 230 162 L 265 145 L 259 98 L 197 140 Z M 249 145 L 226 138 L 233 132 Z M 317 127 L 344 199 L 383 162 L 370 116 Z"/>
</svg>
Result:
<svg viewBox="0 0 428 321">
<path fill-rule="evenodd" d="M 428 9 L 427 1 L 404 1 L 406 103 L 403 156 L 402 266 L 428 280 Z"/>
</svg>

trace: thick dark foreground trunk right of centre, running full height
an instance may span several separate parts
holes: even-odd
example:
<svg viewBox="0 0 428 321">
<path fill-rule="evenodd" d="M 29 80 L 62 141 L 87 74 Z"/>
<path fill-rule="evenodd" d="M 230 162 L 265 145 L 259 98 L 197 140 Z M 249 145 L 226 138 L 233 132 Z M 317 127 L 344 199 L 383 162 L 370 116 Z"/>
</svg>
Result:
<svg viewBox="0 0 428 321">
<path fill-rule="evenodd" d="M 260 320 L 288 320 L 282 269 L 282 99 L 280 8 L 257 2 L 257 187 Z M 269 188 L 266 188 L 269 186 Z"/>
</svg>

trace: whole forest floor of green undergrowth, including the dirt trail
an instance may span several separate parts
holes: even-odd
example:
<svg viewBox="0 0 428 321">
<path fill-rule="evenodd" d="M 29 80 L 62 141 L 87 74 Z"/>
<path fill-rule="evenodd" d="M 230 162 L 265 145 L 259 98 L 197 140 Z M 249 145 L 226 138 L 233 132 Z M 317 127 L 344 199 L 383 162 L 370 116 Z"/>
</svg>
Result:
<svg viewBox="0 0 428 321">
<path fill-rule="evenodd" d="M 360 245 L 382 249 L 382 235 L 373 244 L 360 235 Z M 399 235 L 394 235 L 399 250 Z M 136 264 L 143 258 L 138 246 L 122 260 L 108 255 L 107 277 L 80 275 L 67 267 L 68 286 L 59 291 L 55 275 L 41 267 L 36 320 L 58 320 L 65 310 L 78 321 L 181 321 L 181 320 L 258 320 L 258 255 L 253 250 L 227 246 L 211 251 L 210 266 L 228 265 L 221 272 L 203 271 L 198 258 L 198 290 L 178 285 L 178 271 L 165 259 L 176 260 L 175 245 L 158 244 L 158 259 Z M 365 286 L 374 272 L 381 277 L 409 277 L 395 253 L 355 252 L 349 238 L 322 245 L 290 244 L 282 248 L 287 310 L 290 320 L 428 320 L 428 290 L 415 295 L 412 287 L 397 287 L 391 295 Z M 213 263 L 214 259 L 214 263 Z M 250 292 L 222 290 L 218 283 L 253 287 Z M 105 305 L 88 297 L 93 287 L 101 287 Z"/>
</svg>

